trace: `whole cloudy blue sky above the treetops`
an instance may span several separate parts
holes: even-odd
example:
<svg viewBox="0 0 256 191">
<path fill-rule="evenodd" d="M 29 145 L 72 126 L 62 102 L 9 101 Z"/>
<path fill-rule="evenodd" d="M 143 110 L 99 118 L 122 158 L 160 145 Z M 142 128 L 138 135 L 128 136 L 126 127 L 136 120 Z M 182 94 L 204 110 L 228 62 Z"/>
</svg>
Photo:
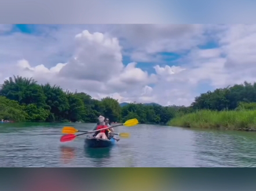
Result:
<svg viewBox="0 0 256 191">
<path fill-rule="evenodd" d="M 13 75 L 122 102 L 189 106 L 256 81 L 255 24 L 0 25 L 0 80 Z"/>
</svg>

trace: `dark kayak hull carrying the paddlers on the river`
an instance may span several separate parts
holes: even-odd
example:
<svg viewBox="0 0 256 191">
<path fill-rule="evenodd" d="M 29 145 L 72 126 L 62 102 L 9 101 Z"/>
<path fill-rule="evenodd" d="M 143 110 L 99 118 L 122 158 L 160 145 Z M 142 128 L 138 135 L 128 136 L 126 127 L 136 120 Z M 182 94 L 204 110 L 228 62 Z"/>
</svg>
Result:
<svg viewBox="0 0 256 191">
<path fill-rule="evenodd" d="M 114 138 L 103 139 L 103 138 L 95 138 L 95 137 L 87 137 L 85 139 L 85 144 L 90 148 L 103 148 L 103 147 L 111 147 L 115 144 Z"/>
</svg>

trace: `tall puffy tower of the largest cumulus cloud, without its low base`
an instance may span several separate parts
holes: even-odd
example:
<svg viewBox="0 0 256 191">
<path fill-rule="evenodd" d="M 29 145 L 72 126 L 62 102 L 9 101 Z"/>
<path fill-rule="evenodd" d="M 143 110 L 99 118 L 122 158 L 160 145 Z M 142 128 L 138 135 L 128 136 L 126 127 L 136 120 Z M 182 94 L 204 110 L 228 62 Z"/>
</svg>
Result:
<svg viewBox="0 0 256 191">
<path fill-rule="evenodd" d="M 83 31 L 75 36 L 75 40 L 75 55 L 60 70 L 60 76 L 106 81 L 123 69 L 118 39 L 108 38 L 100 32 Z"/>
</svg>

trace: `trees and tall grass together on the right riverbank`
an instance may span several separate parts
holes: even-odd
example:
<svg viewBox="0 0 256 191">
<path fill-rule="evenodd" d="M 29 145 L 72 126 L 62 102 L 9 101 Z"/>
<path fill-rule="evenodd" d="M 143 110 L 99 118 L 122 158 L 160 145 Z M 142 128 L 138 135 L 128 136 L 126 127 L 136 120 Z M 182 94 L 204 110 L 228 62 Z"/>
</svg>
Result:
<svg viewBox="0 0 256 191">
<path fill-rule="evenodd" d="M 191 128 L 256 128 L 256 83 L 234 85 L 202 93 L 185 115 L 176 115 L 167 124 Z"/>
</svg>

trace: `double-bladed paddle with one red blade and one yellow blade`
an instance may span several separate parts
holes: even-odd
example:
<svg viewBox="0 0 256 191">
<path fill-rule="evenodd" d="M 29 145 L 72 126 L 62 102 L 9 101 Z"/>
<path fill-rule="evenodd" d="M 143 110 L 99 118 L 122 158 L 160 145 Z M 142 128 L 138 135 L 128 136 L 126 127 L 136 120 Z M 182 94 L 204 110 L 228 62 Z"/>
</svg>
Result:
<svg viewBox="0 0 256 191">
<path fill-rule="evenodd" d="M 103 128 L 103 129 L 100 129 L 100 130 L 109 129 L 109 128 L 116 128 L 116 127 L 122 126 L 122 125 L 129 127 L 129 126 L 134 126 L 134 125 L 137 125 L 137 124 L 138 124 L 138 120 L 137 120 L 136 118 L 134 118 L 134 119 L 129 119 L 129 120 L 127 120 L 127 121 L 126 121 L 125 123 L 123 123 L 123 124 L 116 125 L 116 126 L 110 126 L 110 127 L 108 127 L 108 128 Z M 72 140 L 74 140 L 77 136 L 81 136 L 81 135 L 83 135 L 83 134 L 88 134 L 88 133 L 98 132 L 98 131 L 100 131 L 100 130 L 93 130 L 93 131 L 91 131 L 91 132 L 86 132 L 86 133 L 77 134 L 77 135 L 75 135 L 75 134 L 65 134 L 65 135 L 63 135 L 63 136 L 60 138 L 60 141 L 61 141 L 61 142 L 72 141 Z"/>
</svg>

